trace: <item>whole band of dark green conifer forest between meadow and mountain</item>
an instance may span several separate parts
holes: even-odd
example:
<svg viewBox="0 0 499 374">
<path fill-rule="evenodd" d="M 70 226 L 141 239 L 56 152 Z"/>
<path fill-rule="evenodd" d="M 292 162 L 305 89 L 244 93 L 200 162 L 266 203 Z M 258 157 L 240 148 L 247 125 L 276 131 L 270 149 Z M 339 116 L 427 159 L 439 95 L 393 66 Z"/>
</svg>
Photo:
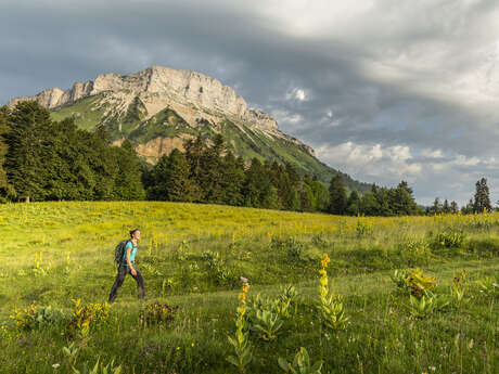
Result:
<svg viewBox="0 0 499 374">
<path fill-rule="evenodd" d="M 36 102 L 0 107 L 0 201 L 171 201 L 226 204 L 268 209 L 324 211 L 335 215 L 398 216 L 457 212 L 457 204 L 438 199 L 418 206 L 412 189 L 379 188 L 347 194 L 342 177 L 324 185 L 290 164 L 250 163 L 235 157 L 221 136 L 208 146 L 201 136 L 174 150 L 154 166 L 125 140 L 110 143 L 103 127 L 78 129 L 72 118 L 54 121 Z M 484 185 L 485 184 L 485 185 Z M 477 182 L 482 195 L 486 180 Z M 484 190 L 486 189 L 486 191 Z M 471 201 L 463 212 L 490 203 Z M 481 197 L 478 196 L 478 199 Z M 468 210 L 466 210 L 468 209 Z"/>
</svg>

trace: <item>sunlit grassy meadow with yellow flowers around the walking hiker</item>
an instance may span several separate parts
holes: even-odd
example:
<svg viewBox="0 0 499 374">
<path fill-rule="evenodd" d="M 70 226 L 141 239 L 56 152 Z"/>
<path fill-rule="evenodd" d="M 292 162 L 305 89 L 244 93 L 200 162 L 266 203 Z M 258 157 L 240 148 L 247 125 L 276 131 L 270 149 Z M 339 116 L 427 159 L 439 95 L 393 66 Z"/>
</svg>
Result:
<svg viewBox="0 0 499 374">
<path fill-rule="evenodd" d="M 108 307 L 133 228 L 146 297 Z M 36 203 L 0 231 L 0 373 L 499 373 L 499 214 Z"/>
</svg>

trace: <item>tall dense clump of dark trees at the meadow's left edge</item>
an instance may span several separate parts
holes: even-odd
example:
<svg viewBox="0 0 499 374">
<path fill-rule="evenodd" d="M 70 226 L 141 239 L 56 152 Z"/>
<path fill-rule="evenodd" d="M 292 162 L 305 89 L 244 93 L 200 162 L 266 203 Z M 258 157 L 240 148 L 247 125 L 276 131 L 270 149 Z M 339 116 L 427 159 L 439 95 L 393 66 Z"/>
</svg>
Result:
<svg viewBox="0 0 499 374">
<path fill-rule="evenodd" d="M 0 199 L 142 199 L 141 163 L 129 141 L 110 146 L 103 127 L 53 121 L 36 102 L 0 108 Z"/>
</svg>

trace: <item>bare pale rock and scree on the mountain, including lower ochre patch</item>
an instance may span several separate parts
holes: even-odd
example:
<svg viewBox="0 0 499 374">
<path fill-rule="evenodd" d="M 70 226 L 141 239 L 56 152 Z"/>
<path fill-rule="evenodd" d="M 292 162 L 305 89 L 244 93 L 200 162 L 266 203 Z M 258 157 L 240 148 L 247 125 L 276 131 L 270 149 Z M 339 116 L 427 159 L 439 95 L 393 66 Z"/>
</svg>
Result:
<svg viewBox="0 0 499 374">
<path fill-rule="evenodd" d="M 196 72 L 152 66 L 125 76 L 115 73 L 103 74 L 93 81 L 76 82 L 67 90 L 52 88 L 35 96 L 12 99 L 9 106 L 12 107 L 21 101 L 35 100 L 40 105 L 57 112 L 90 96 L 98 98 L 91 111 L 105 108 L 101 124 L 105 124 L 106 118 L 123 120 L 127 117 L 129 107 L 139 100 L 146 113 L 146 117 L 142 118 L 144 120 L 166 107 L 175 109 L 192 128 L 196 128 L 199 124 L 209 122 L 214 126 L 214 131 L 217 131 L 217 124 L 230 119 L 241 131 L 246 131 L 247 127 L 268 138 L 284 139 L 315 156 L 311 147 L 282 133 L 276 119 L 270 115 L 248 108 L 244 99 L 235 94 L 232 88 Z M 118 130 L 121 132 L 121 125 Z M 121 133 L 119 137 L 125 138 L 127 134 Z M 181 139 L 177 139 L 175 144 L 170 144 L 168 142 L 171 140 L 158 138 L 139 144 L 137 150 L 146 157 L 153 157 L 168 152 L 171 146 L 176 147 L 180 141 Z"/>
</svg>

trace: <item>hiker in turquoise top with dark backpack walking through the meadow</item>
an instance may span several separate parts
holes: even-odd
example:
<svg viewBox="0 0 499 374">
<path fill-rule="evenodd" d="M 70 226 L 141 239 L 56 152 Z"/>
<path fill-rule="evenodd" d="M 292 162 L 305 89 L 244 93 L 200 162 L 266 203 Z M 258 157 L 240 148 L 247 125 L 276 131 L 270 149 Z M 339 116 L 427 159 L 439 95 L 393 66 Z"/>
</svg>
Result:
<svg viewBox="0 0 499 374">
<path fill-rule="evenodd" d="M 121 286 L 125 276 L 130 274 L 137 282 L 137 291 L 139 292 L 139 298 L 144 298 L 144 280 L 140 274 L 139 270 L 136 269 L 135 259 L 137 255 L 137 249 L 139 248 L 140 231 L 135 229 L 130 231 L 130 240 L 127 241 L 125 245 L 125 250 L 123 252 L 123 258 L 119 261 L 118 273 L 116 275 L 116 281 L 114 281 L 113 287 L 111 288 L 110 299 L 107 302 L 113 304 L 118 294 L 118 288 Z"/>
</svg>

